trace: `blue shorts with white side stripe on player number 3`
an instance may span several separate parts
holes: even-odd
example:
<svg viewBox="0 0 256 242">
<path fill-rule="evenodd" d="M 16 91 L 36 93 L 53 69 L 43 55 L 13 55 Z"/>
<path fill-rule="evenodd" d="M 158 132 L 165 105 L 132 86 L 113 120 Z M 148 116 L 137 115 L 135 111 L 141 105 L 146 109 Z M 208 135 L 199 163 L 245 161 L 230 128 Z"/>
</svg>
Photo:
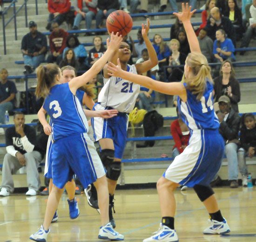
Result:
<svg viewBox="0 0 256 242">
<path fill-rule="evenodd" d="M 83 187 L 105 175 L 105 169 L 87 133 L 56 140 L 52 145 L 53 183 L 62 189 L 74 174 Z"/>
</svg>

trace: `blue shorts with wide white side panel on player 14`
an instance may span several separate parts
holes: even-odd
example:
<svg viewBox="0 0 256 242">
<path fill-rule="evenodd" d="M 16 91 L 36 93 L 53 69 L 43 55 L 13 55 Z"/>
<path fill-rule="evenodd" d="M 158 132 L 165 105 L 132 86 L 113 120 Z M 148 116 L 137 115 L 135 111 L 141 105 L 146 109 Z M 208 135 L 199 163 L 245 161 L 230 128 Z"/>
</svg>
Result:
<svg viewBox="0 0 256 242">
<path fill-rule="evenodd" d="M 224 140 L 218 130 L 191 131 L 189 145 L 175 157 L 163 177 L 188 187 L 209 186 L 221 167 L 223 156 Z"/>
</svg>

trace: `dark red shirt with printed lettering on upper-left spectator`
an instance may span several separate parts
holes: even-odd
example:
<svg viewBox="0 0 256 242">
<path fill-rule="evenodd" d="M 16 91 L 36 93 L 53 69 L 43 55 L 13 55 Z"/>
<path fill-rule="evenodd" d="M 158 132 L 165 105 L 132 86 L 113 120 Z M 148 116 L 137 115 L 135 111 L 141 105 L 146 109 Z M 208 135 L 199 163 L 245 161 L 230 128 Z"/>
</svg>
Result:
<svg viewBox="0 0 256 242">
<path fill-rule="evenodd" d="M 49 36 L 49 43 L 51 52 L 60 52 L 62 53 L 66 47 L 68 33 L 59 29 L 59 33 L 55 33 L 54 31 Z"/>
</svg>

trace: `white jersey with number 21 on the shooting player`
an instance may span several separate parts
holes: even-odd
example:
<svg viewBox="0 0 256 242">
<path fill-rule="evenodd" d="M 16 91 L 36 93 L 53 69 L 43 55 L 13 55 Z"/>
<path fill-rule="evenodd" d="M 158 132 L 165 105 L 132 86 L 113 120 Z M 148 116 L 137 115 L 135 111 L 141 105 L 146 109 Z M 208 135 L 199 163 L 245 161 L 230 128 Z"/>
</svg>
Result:
<svg viewBox="0 0 256 242">
<path fill-rule="evenodd" d="M 127 65 L 127 71 L 137 74 L 135 65 Z M 104 86 L 99 93 L 98 102 L 119 112 L 133 111 L 140 85 L 120 77 L 103 78 L 103 80 Z"/>
</svg>

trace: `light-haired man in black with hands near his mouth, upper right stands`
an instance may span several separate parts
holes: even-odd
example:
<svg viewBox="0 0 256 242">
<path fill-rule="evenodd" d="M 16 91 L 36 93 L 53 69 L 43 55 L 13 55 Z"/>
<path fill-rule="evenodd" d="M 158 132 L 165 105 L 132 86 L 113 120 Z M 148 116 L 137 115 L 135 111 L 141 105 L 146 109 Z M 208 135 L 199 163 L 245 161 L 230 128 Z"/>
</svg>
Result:
<svg viewBox="0 0 256 242">
<path fill-rule="evenodd" d="M 211 17 L 207 20 L 206 28 L 208 30 L 208 36 L 212 39 L 216 39 L 216 31 L 223 29 L 227 33 L 228 38 L 232 40 L 236 47 L 236 32 L 234 26 L 228 17 L 222 16 L 218 7 L 213 7 L 210 11 Z"/>
</svg>

